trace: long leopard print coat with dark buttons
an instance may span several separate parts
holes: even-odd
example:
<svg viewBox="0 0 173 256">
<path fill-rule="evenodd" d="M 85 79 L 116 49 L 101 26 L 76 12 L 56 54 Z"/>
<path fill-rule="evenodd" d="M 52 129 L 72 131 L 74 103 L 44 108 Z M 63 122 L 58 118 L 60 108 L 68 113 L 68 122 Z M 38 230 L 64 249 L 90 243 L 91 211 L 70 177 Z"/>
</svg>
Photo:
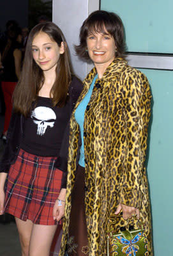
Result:
<svg viewBox="0 0 173 256">
<path fill-rule="evenodd" d="M 94 76 L 93 68 L 84 80 L 84 89 L 75 109 L 86 95 Z M 144 161 L 151 92 L 146 76 L 121 58 L 109 65 L 102 79 L 96 79 L 84 121 L 86 157 L 86 222 L 89 256 L 107 255 L 107 227 L 110 214 L 119 203 L 140 209 L 141 220 L 151 246 L 151 213 Z M 71 189 L 75 182 L 79 152 L 79 125 L 74 112 L 70 121 L 70 147 L 63 237 L 59 255 L 68 239 Z M 137 220 L 131 220 L 138 228 Z M 128 223 L 129 224 L 129 223 Z M 127 225 L 117 218 L 116 230 Z"/>
</svg>

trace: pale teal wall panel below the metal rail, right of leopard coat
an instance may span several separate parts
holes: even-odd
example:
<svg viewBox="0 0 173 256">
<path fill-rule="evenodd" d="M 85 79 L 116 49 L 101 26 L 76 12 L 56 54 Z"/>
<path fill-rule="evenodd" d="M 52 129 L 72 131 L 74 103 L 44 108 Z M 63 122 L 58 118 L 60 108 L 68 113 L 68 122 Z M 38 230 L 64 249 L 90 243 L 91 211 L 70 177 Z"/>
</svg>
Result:
<svg viewBox="0 0 173 256">
<path fill-rule="evenodd" d="M 153 214 L 155 256 L 172 256 L 172 95 L 171 71 L 142 70 L 149 79 L 153 108 L 149 129 L 147 174 Z"/>
</svg>

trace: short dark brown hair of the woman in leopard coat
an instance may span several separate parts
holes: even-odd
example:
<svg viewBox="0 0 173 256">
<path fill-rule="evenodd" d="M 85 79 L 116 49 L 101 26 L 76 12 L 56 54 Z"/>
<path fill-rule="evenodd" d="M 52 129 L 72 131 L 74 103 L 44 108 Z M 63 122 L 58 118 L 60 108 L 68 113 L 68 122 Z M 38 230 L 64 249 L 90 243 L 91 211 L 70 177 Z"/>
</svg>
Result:
<svg viewBox="0 0 173 256">
<path fill-rule="evenodd" d="M 117 51 L 116 57 L 124 58 L 124 52 L 126 50 L 124 26 L 120 17 L 113 12 L 96 11 L 87 17 L 80 28 L 80 44 L 75 45 L 75 51 L 80 58 L 84 60 L 90 60 L 87 49 L 87 36 L 89 33 L 103 33 L 106 31 L 114 38 Z"/>
</svg>

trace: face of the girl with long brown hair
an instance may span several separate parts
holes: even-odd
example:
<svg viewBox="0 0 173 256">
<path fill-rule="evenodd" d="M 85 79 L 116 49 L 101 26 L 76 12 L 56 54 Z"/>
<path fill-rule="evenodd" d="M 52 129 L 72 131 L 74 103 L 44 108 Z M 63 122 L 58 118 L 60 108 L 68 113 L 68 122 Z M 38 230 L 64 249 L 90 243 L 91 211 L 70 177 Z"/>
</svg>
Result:
<svg viewBox="0 0 173 256">
<path fill-rule="evenodd" d="M 34 61 L 43 71 L 55 71 L 59 56 L 64 53 L 64 44 L 59 47 L 47 33 L 40 31 L 34 36 L 32 51 Z"/>
</svg>

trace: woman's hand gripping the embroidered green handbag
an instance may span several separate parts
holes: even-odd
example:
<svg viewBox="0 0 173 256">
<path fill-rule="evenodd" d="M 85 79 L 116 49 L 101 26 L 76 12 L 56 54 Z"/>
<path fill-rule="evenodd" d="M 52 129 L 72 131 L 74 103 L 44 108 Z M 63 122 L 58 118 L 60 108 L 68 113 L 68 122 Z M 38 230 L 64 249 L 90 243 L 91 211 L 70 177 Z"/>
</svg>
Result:
<svg viewBox="0 0 173 256">
<path fill-rule="evenodd" d="M 124 204 L 119 204 L 115 214 L 116 215 L 119 214 L 119 212 L 121 212 L 121 210 L 123 211 L 123 219 L 124 220 L 131 219 L 133 216 L 137 216 L 138 220 L 140 218 L 140 211 L 139 211 L 139 209 L 137 209 L 135 207 L 130 207 L 130 206 L 126 206 Z"/>
</svg>

